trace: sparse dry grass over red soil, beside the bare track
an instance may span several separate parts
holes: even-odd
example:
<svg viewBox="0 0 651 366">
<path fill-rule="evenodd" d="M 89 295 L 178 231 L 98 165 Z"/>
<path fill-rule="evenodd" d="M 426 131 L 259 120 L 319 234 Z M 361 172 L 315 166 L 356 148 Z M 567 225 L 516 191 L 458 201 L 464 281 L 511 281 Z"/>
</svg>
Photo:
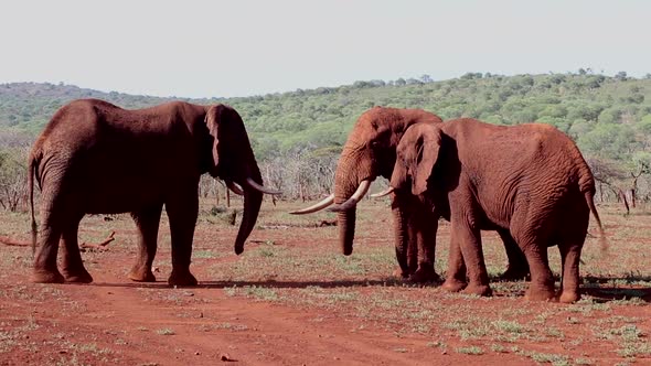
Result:
<svg viewBox="0 0 651 366">
<path fill-rule="evenodd" d="M 337 227 L 314 227 L 320 220 L 332 219 L 333 214 L 287 214 L 300 206 L 301 203 L 279 203 L 275 207 L 266 202 L 245 254 L 235 257 L 232 238 L 237 226 L 216 217 L 216 211 L 210 204 L 202 205 L 192 265 L 200 281 L 223 289 L 224 294 L 231 298 L 279 304 L 314 314 L 335 314 L 346 320 L 351 332 L 373 330 L 389 332 L 398 338 L 419 337 L 427 348 L 472 355 L 477 357 L 472 359 L 479 362 L 490 354 L 511 354 L 523 360 L 554 365 L 651 362 L 648 305 L 651 299 L 650 215 L 638 213 L 625 217 L 618 207 L 599 207 L 610 250 L 602 255 L 598 238 L 590 236 L 587 239 L 581 265 L 584 299 L 573 305 L 561 305 L 525 302 L 522 299 L 526 289 L 524 282 L 493 282 L 491 286 L 495 295 L 488 299 L 446 293 L 436 286 L 403 283 L 391 276 L 396 262 L 385 202 L 364 201 L 361 204 L 354 254 L 350 257 L 340 254 Z M 26 214 L 0 213 L 0 235 L 29 238 Z M 239 219 L 236 218 L 236 225 Z M 135 257 L 135 226 L 128 215 L 118 215 L 111 220 L 104 220 L 102 216 L 86 218 L 81 241 L 102 239 L 110 230 L 118 234 L 107 252 L 84 254 L 92 273 L 106 270 L 111 258 Z M 590 233 L 596 234 L 597 230 L 591 227 Z M 436 262 L 441 274 L 446 268 L 448 239 L 449 227 L 441 223 Z M 164 279 L 170 271 L 166 218 L 159 240 L 157 276 Z M 26 277 L 31 258 L 29 250 L 1 249 L 2 283 L 10 283 L 8 278 L 14 273 Z M 505 256 L 493 233 L 484 235 L 484 252 L 490 274 L 501 273 Z M 559 258 L 556 248 L 549 248 L 549 258 L 557 274 Z M 127 269 L 111 268 L 119 273 Z M 84 311 L 83 305 L 67 299 L 65 291 L 49 286 L 33 289 L 33 286 L 21 283 L 3 284 L 0 287 L 0 302 L 36 305 L 55 299 L 68 301 L 66 306 L 71 310 Z M 191 291 L 141 288 L 137 292 L 146 301 L 158 301 L 180 310 L 193 309 L 203 301 L 210 301 L 195 297 Z M 323 315 L 316 315 L 316 320 L 320 316 Z M 25 341 L 25 336 L 29 337 L 40 326 L 43 324 L 33 319 L 0 319 L 0 357 L 17 347 L 35 347 Z M 242 332 L 247 329 L 237 323 L 222 322 L 195 326 L 195 330 Z M 138 330 L 140 333 L 146 331 Z M 153 333 L 175 334 L 171 327 L 159 327 Z M 116 342 L 120 345 L 122 341 Z M 587 346 L 594 352 L 586 354 Z M 104 359 L 117 357 L 92 341 L 66 347 L 66 352 L 74 355 L 92 353 Z M 394 351 L 404 353 L 407 348 Z"/>
</svg>

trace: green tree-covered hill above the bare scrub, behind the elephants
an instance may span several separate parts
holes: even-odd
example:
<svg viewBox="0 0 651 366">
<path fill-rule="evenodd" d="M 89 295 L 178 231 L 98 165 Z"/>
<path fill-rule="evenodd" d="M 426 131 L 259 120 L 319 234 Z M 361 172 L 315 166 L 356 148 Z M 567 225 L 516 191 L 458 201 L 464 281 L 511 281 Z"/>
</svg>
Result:
<svg viewBox="0 0 651 366">
<path fill-rule="evenodd" d="M 424 108 L 444 119 L 474 117 L 492 123 L 540 121 L 574 138 L 589 158 L 625 163 L 651 149 L 651 78 L 576 74 L 502 76 L 468 73 L 431 82 L 429 76 L 356 82 L 245 98 L 158 98 L 103 93 L 70 85 L 0 85 L 0 132 L 35 136 L 52 114 L 77 98 L 100 98 L 125 108 L 171 99 L 227 103 L 244 117 L 259 160 L 292 151 L 337 151 L 356 117 L 375 105 Z"/>
</svg>

